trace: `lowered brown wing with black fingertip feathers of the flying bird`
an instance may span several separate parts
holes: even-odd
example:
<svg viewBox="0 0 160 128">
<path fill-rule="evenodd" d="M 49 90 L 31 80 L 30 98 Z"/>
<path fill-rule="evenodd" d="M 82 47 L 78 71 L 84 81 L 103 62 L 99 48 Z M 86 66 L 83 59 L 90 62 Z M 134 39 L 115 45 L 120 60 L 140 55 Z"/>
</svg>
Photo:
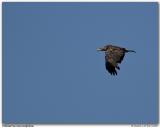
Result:
<svg viewBox="0 0 160 128">
<path fill-rule="evenodd" d="M 118 63 L 121 63 L 125 56 L 125 49 L 119 47 L 110 47 L 105 53 L 105 66 L 107 71 L 112 75 L 117 75 L 115 68 L 118 67 Z"/>
</svg>

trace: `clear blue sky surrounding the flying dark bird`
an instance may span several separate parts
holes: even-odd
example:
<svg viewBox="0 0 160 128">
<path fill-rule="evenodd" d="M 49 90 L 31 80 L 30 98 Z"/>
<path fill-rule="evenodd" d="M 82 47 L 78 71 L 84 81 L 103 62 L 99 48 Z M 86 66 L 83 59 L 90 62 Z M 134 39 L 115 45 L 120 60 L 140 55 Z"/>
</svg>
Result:
<svg viewBox="0 0 160 128">
<path fill-rule="evenodd" d="M 3 3 L 3 123 L 158 123 L 157 3 Z M 128 53 L 105 70 L 114 44 Z"/>
</svg>

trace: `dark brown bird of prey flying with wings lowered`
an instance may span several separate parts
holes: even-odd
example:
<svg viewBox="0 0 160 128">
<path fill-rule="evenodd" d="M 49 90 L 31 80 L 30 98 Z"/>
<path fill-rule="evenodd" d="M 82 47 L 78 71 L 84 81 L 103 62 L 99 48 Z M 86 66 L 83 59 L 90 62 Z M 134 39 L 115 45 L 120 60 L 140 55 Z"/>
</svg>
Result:
<svg viewBox="0 0 160 128">
<path fill-rule="evenodd" d="M 103 48 L 97 48 L 97 51 L 104 51 L 105 52 L 105 67 L 106 70 L 111 75 L 117 75 L 116 69 L 120 70 L 118 63 L 121 63 L 125 53 L 127 52 L 134 52 L 133 50 L 127 50 L 126 48 L 113 46 L 113 45 L 106 45 Z"/>
</svg>

